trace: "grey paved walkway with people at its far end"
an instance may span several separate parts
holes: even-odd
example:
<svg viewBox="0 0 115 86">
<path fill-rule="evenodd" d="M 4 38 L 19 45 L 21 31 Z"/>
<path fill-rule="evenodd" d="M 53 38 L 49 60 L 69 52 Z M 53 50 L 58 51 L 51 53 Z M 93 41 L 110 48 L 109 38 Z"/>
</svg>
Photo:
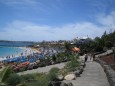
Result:
<svg viewBox="0 0 115 86">
<path fill-rule="evenodd" d="M 97 62 L 86 62 L 81 77 L 71 80 L 74 86 L 110 86 L 106 74 Z"/>
</svg>

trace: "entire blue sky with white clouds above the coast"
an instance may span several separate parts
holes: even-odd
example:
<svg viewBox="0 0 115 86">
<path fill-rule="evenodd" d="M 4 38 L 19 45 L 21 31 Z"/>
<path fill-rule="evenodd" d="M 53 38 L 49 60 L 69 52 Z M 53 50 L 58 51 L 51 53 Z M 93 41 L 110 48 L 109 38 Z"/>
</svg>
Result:
<svg viewBox="0 0 115 86">
<path fill-rule="evenodd" d="M 114 30 L 115 0 L 0 0 L 0 40 L 72 40 Z"/>
</svg>

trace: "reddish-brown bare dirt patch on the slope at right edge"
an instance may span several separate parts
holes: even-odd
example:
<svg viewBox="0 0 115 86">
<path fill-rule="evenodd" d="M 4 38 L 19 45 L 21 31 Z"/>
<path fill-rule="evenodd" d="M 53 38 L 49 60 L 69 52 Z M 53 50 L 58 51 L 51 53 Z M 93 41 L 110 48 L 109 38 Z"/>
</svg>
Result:
<svg viewBox="0 0 115 86">
<path fill-rule="evenodd" d="M 107 56 L 101 56 L 100 59 L 105 61 L 108 65 L 111 65 L 111 67 L 115 70 L 115 61 L 113 60 L 114 55 L 110 54 Z"/>
</svg>

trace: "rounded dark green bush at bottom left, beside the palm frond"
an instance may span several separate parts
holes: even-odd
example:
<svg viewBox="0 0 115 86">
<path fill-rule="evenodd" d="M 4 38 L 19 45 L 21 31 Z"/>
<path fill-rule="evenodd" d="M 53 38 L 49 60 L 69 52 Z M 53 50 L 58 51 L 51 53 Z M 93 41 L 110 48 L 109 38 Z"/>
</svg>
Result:
<svg viewBox="0 0 115 86">
<path fill-rule="evenodd" d="M 8 83 L 8 85 L 16 86 L 17 84 L 19 84 L 21 82 L 21 78 L 19 75 L 13 73 L 13 74 L 10 74 L 10 76 L 6 80 L 6 82 Z"/>
</svg>

